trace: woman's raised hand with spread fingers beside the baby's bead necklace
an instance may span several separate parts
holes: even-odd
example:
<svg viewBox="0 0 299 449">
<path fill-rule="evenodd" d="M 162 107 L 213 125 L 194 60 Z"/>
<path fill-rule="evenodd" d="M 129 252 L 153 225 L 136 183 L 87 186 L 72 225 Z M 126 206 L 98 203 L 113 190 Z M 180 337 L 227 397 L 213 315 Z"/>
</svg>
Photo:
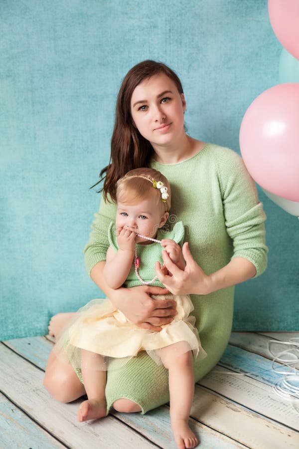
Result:
<svg viewBox="0 0 299 449">
<path fill-rule="evenodd" d="M 187 242 L 183 244 L 182 253 L 186 261 L 184 270 L 171 261 L 166 251 L 162 251 L 164 265 L 172 275 L 163 274 L 160 263 L 156 262 L 155 272 L 159 281 L 174 295 L 211 293 L 213 291 L 211 278 L 195 262 Z"/>
</svg>

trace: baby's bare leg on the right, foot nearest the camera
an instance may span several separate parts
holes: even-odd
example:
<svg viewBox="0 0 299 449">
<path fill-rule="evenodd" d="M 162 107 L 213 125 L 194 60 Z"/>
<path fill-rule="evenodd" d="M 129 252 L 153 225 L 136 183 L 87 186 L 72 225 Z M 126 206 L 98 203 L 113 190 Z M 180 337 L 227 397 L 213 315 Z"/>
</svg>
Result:
<svg viewBox="0 0 299 449">
<path fill-rule="evenodd" d="M 188 425 L 194 375 L 192 352 L 183 352 L 185 349 L 186 343 L 179 342 L 159 351 L 163 365 L 168 369 L 171 429 L 178 449 L 195 448 L 198 444 Z"/>
</svg>

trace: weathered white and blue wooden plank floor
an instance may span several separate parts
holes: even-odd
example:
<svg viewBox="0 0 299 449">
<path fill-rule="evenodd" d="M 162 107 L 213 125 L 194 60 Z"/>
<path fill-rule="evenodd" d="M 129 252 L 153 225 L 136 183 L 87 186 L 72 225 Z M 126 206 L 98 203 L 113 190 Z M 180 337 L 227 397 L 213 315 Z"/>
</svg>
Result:
<svg viewBox="0 0 299 449">
<path fill-rule="evenodd" d="M 195 387 L 190 425 L 199 448 L 299 448 L 299 401 L 273 390 L 283 375 L 268 351 L 270 340 L 281 352 L 287 348 L 279 342 L 294 337 L 299 342 L 299 332 L 232 333 L 219 364 Z M 144 416 L 113 413 L 78 423 L 81 400 L 59 404 L 43 388 L 52 345 L 47 337 L 0 342 L 1 449 L 175 448 L 167 405 Z"/>
</svg>

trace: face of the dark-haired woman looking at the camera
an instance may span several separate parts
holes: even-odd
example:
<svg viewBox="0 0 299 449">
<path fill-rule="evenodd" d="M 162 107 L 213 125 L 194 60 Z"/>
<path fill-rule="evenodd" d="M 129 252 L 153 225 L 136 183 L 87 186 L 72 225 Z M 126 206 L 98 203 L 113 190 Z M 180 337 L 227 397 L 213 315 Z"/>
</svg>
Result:
<svg viewBox="0 0 299 449">
<path fill-rule="evenodd" d="M 184 134 L 184 95 L 165 73 L 140 83 L 131 98 L 135 126 L 153 148 L 174 144 Z"/>
</svg>

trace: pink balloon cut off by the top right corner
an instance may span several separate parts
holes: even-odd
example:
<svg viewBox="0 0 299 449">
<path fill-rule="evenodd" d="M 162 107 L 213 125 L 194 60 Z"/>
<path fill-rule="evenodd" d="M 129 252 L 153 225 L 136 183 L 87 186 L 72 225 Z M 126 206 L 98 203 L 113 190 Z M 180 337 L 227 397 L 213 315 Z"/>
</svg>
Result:
<svg viewBox="0 0 299 449">
<path fill-rule="evenodd" d="M 276 37 L 299 59 L 299 0 L 268 0 L 268 12 Z"/>
</svg>

